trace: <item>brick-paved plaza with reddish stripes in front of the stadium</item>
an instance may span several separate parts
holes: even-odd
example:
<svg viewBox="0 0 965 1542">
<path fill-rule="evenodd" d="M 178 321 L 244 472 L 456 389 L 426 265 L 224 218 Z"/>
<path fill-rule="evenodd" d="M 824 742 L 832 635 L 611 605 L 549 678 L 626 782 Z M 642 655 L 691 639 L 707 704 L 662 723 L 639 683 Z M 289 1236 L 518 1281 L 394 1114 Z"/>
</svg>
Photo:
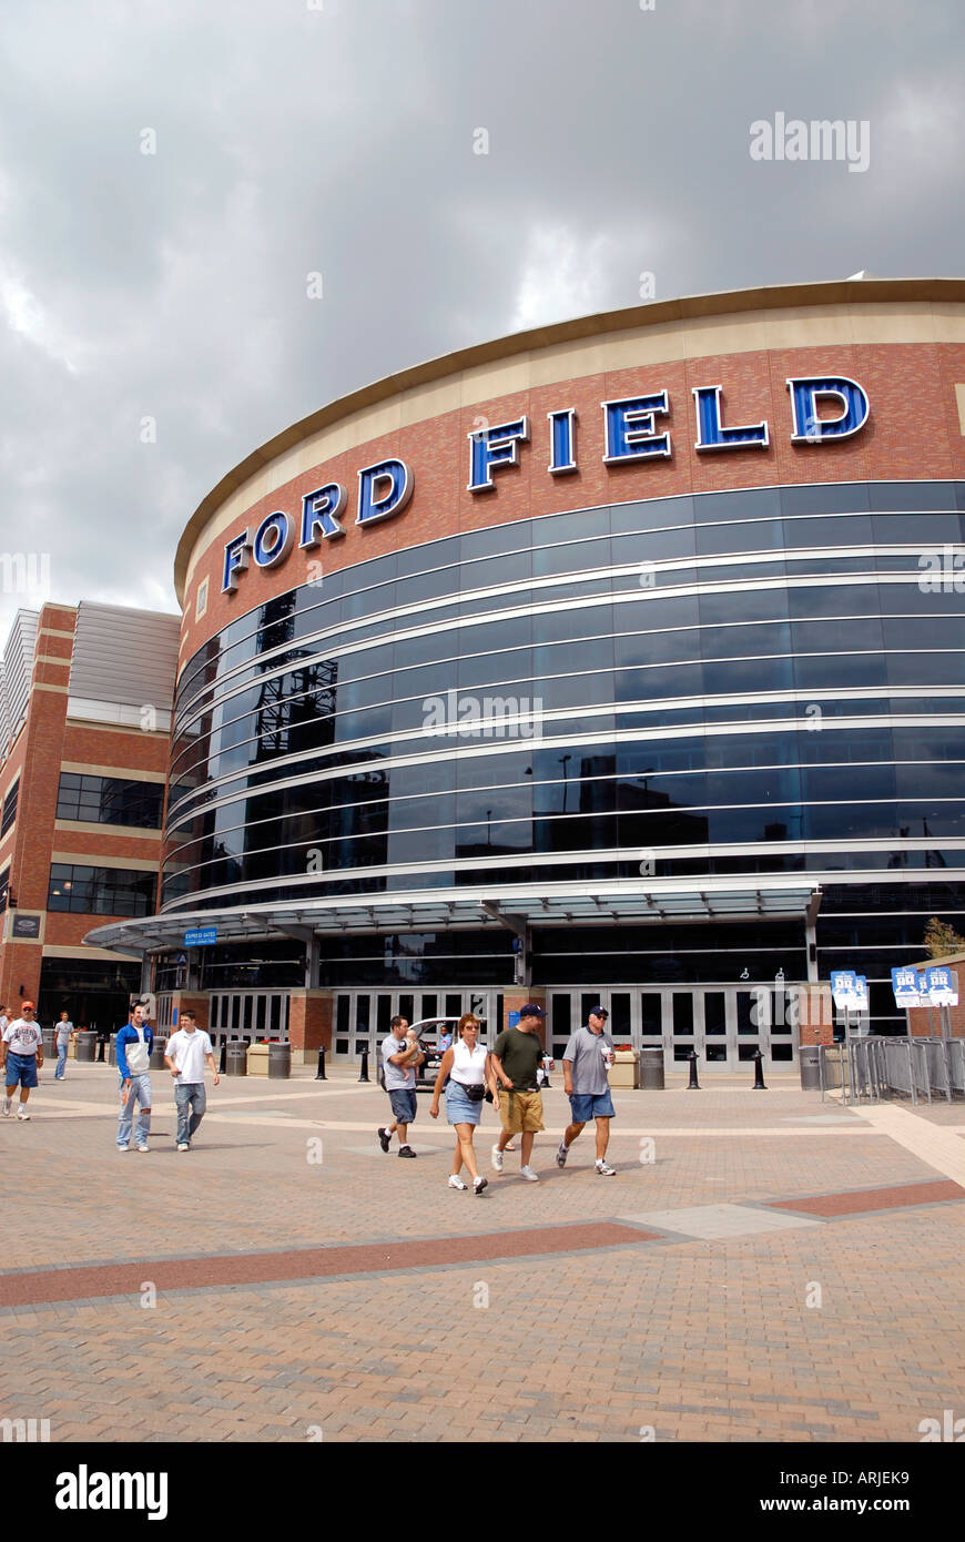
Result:
<svg viewBox="0 0 965 1542">
<path fill-rule="evenodd" d="M 145 1156 L 116 1150 L 114 1070 L 45 1067 L 0 1121 L 28 1184 L 0 1412 L 52 1442 L 917 1442 L 965 1414 L 960 1106 L 672 1079 L 617 1095 L 600 1178 L 589 1130 L 555 1166 L 556 1076 L 540 1184 L 492 1172 L 487 1109 L 475 1198 L 444 1112 L 419 1096 L 399 1163 L 355 1075 L 208 1081 L 183 1155 L 156 1072 Z"/>
</svg>

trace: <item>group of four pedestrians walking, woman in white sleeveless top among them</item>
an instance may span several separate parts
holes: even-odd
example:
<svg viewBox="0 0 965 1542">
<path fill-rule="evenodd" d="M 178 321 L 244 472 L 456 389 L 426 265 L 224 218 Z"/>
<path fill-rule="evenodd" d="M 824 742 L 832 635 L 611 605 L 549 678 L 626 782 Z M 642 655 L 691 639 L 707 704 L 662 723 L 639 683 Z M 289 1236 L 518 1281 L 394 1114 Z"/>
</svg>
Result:
<svg viewBox="0 0 965 1542">
<path fill-rule="evenodd" d="M 492 1050 L 479 1044 L 481 1022 L 472 1012 L 459 1018 L 452 1042 L 446 1047 L 432 1092 L 429 1113 L 439 1116 L 442 1090 L 446 1092 L 446 1118 L 455 1126 L 456 1146 L 453 1152 L 449 1187 L 467 1190 L 462 1169 L 472 1180 L 473 1194 L 482 1194 L 487 1178 L 479 1175 L 473 1146 L 475 1129 L 479 1124 L 482 1103 L 493 1103 L 499 1113 L 503 1132 L 492 1147 L 495 1172 L 504 1170 L 504 1152 L 513 1136 L 519 1136 L 519 1177 L 538 1183 L 532 1153 L 536 1135 L 546 1129 L 543 1123 L 543 1092 L 546 1052 L 540 1038 L 540 1025 L 546 1013 L 533 1002 L 519 1008 L 515 1027 L 498 1035 Z M 570 1123 L 556 1147 L 556 1166 L 566 1167 L 573 1141 L 590 1119 L 597 1130 L 595 1172 L 601 1178 L 614 1178 L 615 1167 L 606 1160 L 610 1138 L 610 1119 L 615 1116 L 609 1086 L 609 1067 L 614 1064 L 614 1041 L 606 1032 L 606 1007 L 595 1005 L 587 1015 L 587 1025 L 570 1036 L 563 1056 L 563 1082 L 570 1101 Z M 379 1126 L 378 1138 L 388 1152 L 393 1133 L 399 1136 L 399 1156 L 415 1156 L 409 1143 L 409 1126 L 416 1118 L 416 1067 L 425 1055 L 405 1018 L 393 1018 L 390 1033 L 381 1047 L 384 1082 L 392 1103 L 392 1124 Z"/>
</svg>

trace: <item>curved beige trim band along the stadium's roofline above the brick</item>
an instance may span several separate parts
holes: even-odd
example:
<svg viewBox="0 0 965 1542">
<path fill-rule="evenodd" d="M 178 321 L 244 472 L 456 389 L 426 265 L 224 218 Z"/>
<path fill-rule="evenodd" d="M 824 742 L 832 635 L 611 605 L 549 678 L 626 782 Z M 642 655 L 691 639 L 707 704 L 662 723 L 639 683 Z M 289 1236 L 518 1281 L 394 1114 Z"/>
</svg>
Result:
<svg viewBox="0 0 965 1542">
<path fill-rule="evenodd" d="M 717 353 L 963 341 L 965 279 L 856 279 L 658 301 L 462 348 L 322 407 L 228 472 L 179 541 L 177 598 L 183 604 L 207 549 L 259 498 L 376 435 L 455 407 L 587 373 Z"/>
</svg>

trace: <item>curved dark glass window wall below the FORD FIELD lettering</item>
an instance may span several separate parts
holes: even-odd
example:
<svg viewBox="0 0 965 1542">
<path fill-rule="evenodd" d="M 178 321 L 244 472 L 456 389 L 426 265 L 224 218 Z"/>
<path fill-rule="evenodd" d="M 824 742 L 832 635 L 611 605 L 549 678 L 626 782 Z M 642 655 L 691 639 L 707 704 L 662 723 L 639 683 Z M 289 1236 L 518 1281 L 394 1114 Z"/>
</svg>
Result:
<svg viewBox="0 0 965 1542">
<path fill-rule="evenodd" d="M 182 672 L 165 902 L 498 882 L 503 856 L 638 877 L 640 848 L 688 879 L 962 867 L 962 510 L 965 484 L 697 493 L 279 595 Z"/>
</svg>

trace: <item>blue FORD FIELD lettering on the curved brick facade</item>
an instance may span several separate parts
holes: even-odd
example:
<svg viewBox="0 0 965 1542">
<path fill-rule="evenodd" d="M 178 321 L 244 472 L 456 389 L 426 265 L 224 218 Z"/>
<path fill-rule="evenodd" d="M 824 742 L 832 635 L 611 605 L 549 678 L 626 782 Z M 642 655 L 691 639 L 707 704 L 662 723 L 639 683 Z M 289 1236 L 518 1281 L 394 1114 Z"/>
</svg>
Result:
<svg viewBox="0 0 965 1542">
<path fill-rule="evenodd" d="M 868 423 L 871 412 L 868 395 L 857 381 L 845 375 L 800 375 L 786 381 L 791 402 L 792 444 L 834 444 L 848 439 Z M 723 386 L 694 386 L 694 418 L 698 453 L 726 450 L 766 450 L 771 430 L 766 418 L 760 423 L 725 424 Z M 831 402 L 837 416 L 820 416 L 819 406 Z M 661 461 L 674 455 L 669 429 L 661 427 L 671 404 L 666 390 L 641 396 L 623 396 L 604 401 L 603 433 L 606 466 L 623 466 L 629 461 Z M 564 476 L 578 470 L 577 410 L 560 407 L 547 412 L 547 473 Z M 469 438 L 467 492 L 486 493 L 496 489 L 493 473 L 518 466 L 523 447 L 530 443 L 530 423 L 526 415 L 496 427 L 475 429 Z M 364 466 L 358 472 L 356 526 L 370 526 L 401 513 L 409 500 L 415 476 L 412 467 L 401 460 L 384 460 Z M 237 589 L 242 574 L 253 560 L 256 567 L 274 567 L 284 561 L 294 546 L 298 534 L 299 550 L 311 550 L 322 541 L 345 535 L 342 520 L 347 512 L 348 490 L 342 483 L 325 483 L 302 497 L 301 517 L 284 509 L 265 515 L 257 529 L 250 527 L 225 541 L 222 569 L 222 594 Z"/>
</svg>

